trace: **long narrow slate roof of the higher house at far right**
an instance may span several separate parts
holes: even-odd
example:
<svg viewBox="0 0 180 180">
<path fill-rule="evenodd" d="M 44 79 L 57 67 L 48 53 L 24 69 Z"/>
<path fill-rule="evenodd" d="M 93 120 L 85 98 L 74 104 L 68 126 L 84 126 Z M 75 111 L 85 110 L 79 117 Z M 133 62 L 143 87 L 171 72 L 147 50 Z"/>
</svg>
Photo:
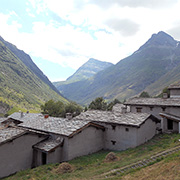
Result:
<svg viewBox="0 0 180 180">
<path fill-rule="evenodd" d="M 132 98 L 125 105 L 139 106 L 180 106 L 180 98 Z"/>
</svg>

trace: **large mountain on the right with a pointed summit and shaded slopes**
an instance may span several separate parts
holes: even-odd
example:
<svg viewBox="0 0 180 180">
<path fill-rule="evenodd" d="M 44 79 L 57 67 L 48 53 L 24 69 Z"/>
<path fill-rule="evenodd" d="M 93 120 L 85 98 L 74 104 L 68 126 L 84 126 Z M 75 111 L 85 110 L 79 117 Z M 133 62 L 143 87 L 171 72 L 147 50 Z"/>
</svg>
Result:
<svg viewBox="0 0 180 180">
<path fill-rule="evenodd" d="M 150 95 L 180 78 L 180 43 L 160 31 L 137 51 L 88 80 L 67 84 L 63 95 L 81 104 L 96 97 L 120 100 L 146 90 Z M 160 84 L 159 84 L 160 83 Z"/>
</svg>

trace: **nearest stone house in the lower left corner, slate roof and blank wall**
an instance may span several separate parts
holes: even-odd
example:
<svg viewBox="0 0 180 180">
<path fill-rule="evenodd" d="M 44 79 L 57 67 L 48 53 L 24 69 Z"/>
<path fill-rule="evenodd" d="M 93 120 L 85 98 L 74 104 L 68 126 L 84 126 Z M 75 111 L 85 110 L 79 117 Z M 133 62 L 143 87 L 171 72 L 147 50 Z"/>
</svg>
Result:
<svg viewBox="0 0 180 180">
<path fill-rule="evenodd" d="M 43 133 L 0 126 L 0 178 L 32 167 L 32 146 L 46 138 Z"/>
</svg>

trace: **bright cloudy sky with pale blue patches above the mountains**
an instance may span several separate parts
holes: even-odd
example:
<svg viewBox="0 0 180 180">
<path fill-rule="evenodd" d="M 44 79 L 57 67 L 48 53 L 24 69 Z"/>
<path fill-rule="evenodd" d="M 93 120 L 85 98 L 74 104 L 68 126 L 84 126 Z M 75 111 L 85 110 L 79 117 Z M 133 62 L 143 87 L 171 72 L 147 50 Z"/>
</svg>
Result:
<svg viewBox="0 0 180 180">
<path fill-rule="evenodd" d="M 0 0 L 0 36 L 52 81 L 90 58 L 116 64 L 154 33 L 180 40 L 180 0 Z"/>
</svg>

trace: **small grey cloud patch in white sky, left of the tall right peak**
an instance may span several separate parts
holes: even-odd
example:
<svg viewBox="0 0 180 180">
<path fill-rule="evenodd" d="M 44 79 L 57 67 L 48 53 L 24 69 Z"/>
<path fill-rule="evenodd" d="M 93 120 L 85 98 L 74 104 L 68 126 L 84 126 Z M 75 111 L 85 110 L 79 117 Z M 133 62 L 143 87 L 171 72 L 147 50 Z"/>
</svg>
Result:
<svg viewBox="0 0 180 180">
<path fill-rule="evenodd" d="M 139 25 L 129 19 L 109 19 L 106 24 L 123 36 L 132 36 L 139 30 Z"/>
</svg>

